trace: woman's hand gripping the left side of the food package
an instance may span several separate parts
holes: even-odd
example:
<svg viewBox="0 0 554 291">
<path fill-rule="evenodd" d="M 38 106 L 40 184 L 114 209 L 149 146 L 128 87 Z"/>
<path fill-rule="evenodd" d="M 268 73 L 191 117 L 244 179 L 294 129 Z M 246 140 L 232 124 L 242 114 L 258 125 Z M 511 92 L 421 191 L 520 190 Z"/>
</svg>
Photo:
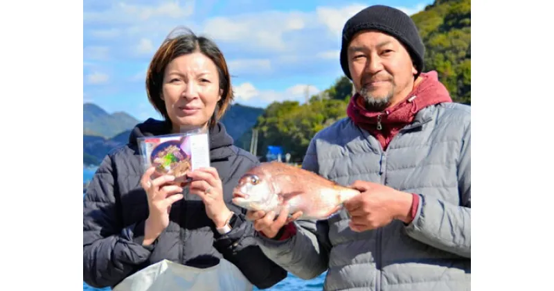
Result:
<svg viewBox="0 0 554 291">
<path fill-rule="evenodd" d="M 170 184 L 174 176 L 162 175 L 151 179 L 154 167 L 149 168 L 141 178 L 141 185 L 148 196 L 149 215 L 145 222 L 143 245 L 150 245 L 169 225 L 171 205 L 183 199 L 183 188 Z"/>
</svg>

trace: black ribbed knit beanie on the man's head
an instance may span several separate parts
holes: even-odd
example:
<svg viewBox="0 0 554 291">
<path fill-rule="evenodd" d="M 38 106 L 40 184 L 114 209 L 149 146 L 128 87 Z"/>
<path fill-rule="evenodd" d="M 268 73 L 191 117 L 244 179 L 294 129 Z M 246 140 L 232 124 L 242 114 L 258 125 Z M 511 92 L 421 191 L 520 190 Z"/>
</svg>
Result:
<svg viewBox="0 0 554 291">
<path fill-rule="evenodd" d="M 423 70 L 425 46 L 421 40 L 418 28 L 406 13 L 392 7 L 375 5 L 361 10 L 346 21 L 342 30 L 341 67 L 344 74 L 352 80 L 348 70 L 347 48 L 352 36 L 361 30 L 379 30 L 398 39 L 408 49 L 411 60 L 418 73 Z"/>
</svg>

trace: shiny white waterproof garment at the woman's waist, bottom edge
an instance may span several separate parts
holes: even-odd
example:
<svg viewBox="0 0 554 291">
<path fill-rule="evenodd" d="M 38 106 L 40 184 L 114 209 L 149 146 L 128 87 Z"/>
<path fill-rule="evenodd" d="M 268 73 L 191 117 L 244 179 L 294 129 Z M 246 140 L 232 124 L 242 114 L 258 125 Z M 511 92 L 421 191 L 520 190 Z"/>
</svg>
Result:
<svg viewBox="0 0 554 291">
<path fill-rule="evenodd" d="M 233 263 L 220 263 L 205 269 L 163 260 L 132 274 L 113 291 L 251 291 L 253 285 Z"/>
</svg>

